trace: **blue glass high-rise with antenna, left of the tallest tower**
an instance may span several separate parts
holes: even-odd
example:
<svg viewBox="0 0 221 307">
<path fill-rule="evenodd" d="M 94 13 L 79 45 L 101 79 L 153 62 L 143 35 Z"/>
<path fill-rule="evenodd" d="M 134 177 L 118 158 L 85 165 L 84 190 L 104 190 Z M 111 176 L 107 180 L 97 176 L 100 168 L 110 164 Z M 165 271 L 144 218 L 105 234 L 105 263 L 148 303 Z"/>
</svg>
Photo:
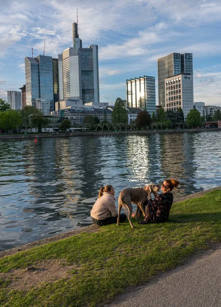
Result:
<svg viewBox="0 0 221 307">
<path fill-rule="evenodd" d="M 52 57 L 38 55 L 25 58 L 26 103 L 36 107 L 36 99 L 44 99 L 54 111 L 53 64 Z"/>
</svg>

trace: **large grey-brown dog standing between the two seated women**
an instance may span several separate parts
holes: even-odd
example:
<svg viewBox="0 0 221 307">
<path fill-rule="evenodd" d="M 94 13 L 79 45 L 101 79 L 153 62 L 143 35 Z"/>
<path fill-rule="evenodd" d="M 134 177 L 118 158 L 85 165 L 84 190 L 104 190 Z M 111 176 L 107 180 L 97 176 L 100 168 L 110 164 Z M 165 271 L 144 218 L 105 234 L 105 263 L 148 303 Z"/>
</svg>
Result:
<svg viewBox="0 0 221 307">
<path fill-rule="evenodd" d="M 137 220 L 137 214 L 139 208 L 141 209 L 143 216 L 145 216 L 145 211 L 143 204 L 145 203 L 146 199 L 148 198 L 148 190 L 150 192 L 158 192 L 160 189 L 159 185 L 155 184 L 150 184 L 147 185 L 143 188 L 128 188 L 124 189 L 120 192 L 119 198 L 118 198 L 118 217 L 117 217 L 117 225 L 119 226 L 119 216 L 120 216 L 120 211 L 122 209 L 122 206 L 125 206 L 128 208 L 129 215 L 128 215 L 128 220 L 131 224 L 132 229 L 134 229 L 134 226 L 131 222 L 131 215 L 133 212 L 133 206 L 132 203 L 137 205 L 137 211 L 136 211 L 136 220 Z"/>
</svg>

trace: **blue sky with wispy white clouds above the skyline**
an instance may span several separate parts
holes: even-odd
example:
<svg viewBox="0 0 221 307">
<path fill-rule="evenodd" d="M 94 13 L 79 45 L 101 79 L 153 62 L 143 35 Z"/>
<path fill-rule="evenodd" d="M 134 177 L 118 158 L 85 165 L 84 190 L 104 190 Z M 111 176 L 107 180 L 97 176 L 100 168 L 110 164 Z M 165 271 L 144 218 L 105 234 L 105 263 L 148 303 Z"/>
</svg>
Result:
<svg viewBox="0 0 221 307">
<path fill-rule="evenodd" d="M 0 0 L 0 98 L 25 84 L 24 57 L 99 46 L 100 102 L 126 99 L 126 80 L 156 79 L 157 58 L 193 54 L 194 101 L 221 106 L 221 0 Z"/>
</svg>

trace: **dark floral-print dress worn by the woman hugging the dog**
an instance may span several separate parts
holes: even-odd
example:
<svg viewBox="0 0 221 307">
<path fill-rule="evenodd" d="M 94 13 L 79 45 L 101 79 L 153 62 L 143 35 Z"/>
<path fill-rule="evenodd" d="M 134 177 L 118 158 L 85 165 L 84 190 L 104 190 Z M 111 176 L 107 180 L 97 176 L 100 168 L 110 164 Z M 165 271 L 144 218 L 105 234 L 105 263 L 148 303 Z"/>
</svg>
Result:
<svg viewBox="0 0 221 307">
<path fill-rule="evenodd" d="M 161 193 L 154 200 L 149 200 L 144 220 L 138 224 L 167 221 L 173 200 L 174 196 L 171 192 Z"/>
</svg>

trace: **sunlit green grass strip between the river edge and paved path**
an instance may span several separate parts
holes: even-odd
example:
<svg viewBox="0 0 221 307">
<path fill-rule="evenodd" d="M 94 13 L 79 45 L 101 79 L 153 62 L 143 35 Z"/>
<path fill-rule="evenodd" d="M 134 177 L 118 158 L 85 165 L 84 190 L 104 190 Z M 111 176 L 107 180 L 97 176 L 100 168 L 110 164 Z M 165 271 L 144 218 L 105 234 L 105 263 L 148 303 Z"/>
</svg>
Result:
<svg viewBox="0 0 221 307">
<path fill-rule="evenodd" d="M 149 281 L 174 268 L 184 257 L 221 242 L 221 191 L 174 204 L 170 220 L 161 224 L 102 227 L 97 233 L 70 238 L 20 252 L 0 260 L 0 272 L 35 266 L 38 261 L 61 259 L 75 264 L 69 278 L 41 284 L 30 291 L 10 291 L 1 280 L 0 305 L 95 306 L 110 300 L 126 287 Z M 34 277 L 33 277 L 34 278 Z"/>
</svg>

